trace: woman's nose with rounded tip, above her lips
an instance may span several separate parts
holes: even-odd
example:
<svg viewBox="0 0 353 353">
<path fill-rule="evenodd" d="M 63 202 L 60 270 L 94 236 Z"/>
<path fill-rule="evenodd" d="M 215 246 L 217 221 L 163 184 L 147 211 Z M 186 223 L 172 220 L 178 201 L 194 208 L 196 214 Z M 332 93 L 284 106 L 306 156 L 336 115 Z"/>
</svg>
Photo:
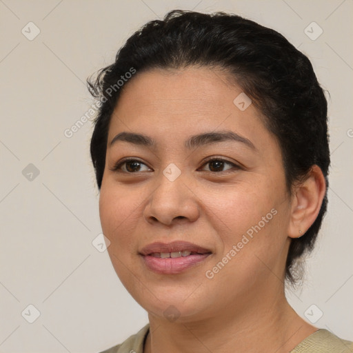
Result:
<svg viewBox="0 0 353 353">
<path fill-rule="evenodd" d="M 198 201 L 192 188 L 187 185 L 183 173 L 174 181 L 170 181 L 161 173 L 143 216 L 148 223 L 162 223 L 167 226 L 173 223 L 194 222 L 199 218 Z"/>
</svg>

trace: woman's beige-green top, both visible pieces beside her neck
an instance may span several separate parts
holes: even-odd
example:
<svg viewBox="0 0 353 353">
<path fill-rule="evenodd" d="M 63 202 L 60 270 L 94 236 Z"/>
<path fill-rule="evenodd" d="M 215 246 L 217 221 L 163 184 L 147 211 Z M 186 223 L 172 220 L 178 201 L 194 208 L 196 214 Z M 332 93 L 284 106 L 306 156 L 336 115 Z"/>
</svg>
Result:
<svg viewBox="0 0 353 353">
<path fill-rule="evenodd" d="M 145 325 L 137 334 L 130 336 L 120 345 L 101 353 L 143 353 L 143 345 L 150 330 Z M 339 339 L 330 331 L 320 329 L 301 341 L 290 353 L 352 353 L 353 342 Z"/>
</svg>

